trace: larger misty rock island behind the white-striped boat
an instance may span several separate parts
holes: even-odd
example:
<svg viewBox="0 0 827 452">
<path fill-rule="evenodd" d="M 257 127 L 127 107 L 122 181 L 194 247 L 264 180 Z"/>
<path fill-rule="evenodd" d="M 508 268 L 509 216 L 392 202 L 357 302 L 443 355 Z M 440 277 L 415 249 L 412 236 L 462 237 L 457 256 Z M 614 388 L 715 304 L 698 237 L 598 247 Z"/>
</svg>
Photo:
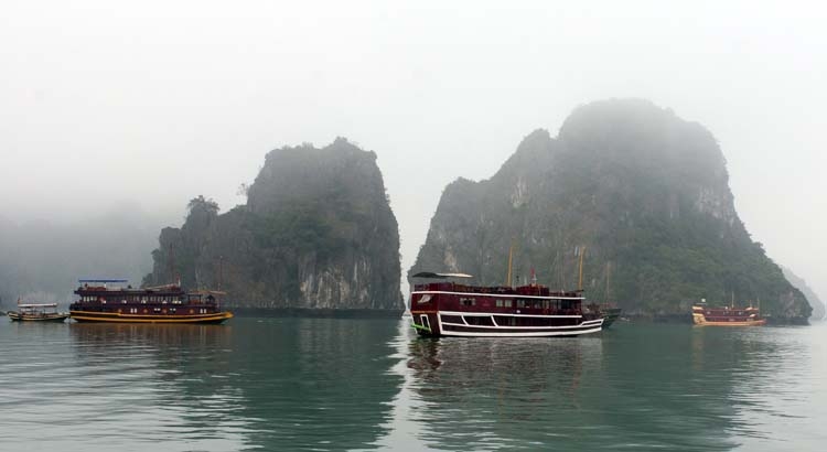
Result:
<svg viewBox="0 0 827 452">
<path fill-rule="evenodd" d="M 698 123 L 645 100 L 576 109 L 557 138 L 526 137 L 491 179 L 445 187 L 412 275 L 466 271 L 505 283 L 536 269 L 554 288 L 583 287 L 597 301 L 640 314 L 688 313 L 761 300 L 777 319 L 809 315 L 804 295 L 753 243 L 738 217 L 726 160 Z"/>
</svg>

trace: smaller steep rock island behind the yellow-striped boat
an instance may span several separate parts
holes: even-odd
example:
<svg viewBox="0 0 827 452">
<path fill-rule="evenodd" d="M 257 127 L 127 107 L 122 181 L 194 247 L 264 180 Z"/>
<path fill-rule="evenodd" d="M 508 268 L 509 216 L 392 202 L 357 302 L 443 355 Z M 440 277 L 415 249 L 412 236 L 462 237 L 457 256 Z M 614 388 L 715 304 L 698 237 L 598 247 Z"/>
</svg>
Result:
<svg viewBox="0 0 827 452">
<path fill-rule="evenodd" d="M 247 204 L 218 215 L 193 200 L 165 228 L 144 284 L 173 275 L 247 308 L 404 309 L 399 234 L 376 155 L 337 139 L 270 152 Z"/>
</svg>

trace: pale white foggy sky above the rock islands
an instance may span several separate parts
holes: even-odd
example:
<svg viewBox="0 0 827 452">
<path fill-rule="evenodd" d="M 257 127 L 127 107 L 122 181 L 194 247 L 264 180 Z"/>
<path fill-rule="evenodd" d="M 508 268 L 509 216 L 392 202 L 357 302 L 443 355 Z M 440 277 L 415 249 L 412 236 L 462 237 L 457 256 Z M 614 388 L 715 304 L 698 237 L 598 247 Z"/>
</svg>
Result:
<svg viewBox="0 0 827 452">
<path fill-rule="evenodd" d="M 825 23 L 796 1 L 3 0 L 0 215 L 228 209 L 269 150 L 346 137 L 378 155 L 407 271 L 448 183 L 641 97 L 716 136 L 753 239 L 827 299 Z"/>
</svg>

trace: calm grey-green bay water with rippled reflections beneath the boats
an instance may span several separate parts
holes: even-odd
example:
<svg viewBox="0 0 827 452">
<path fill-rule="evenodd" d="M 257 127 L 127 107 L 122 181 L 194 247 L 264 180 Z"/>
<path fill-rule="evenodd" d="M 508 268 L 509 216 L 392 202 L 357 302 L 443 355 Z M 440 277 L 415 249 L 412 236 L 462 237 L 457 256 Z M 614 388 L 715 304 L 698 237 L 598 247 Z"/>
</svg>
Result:
<svg viewBox="0 0 827 452">
<path fill-rule="evenodd" d="M 824 450 L 827 325 L 420 340 L 0 321 L 0 450 Z"/>
</svg>

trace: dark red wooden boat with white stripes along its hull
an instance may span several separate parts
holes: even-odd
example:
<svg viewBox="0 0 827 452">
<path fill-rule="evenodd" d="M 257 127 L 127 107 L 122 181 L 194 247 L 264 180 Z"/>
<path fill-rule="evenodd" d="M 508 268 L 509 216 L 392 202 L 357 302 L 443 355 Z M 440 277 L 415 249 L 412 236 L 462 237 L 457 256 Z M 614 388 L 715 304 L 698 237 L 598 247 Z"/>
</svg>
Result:
<svg viewBox="0 0 827 452">
<path fill-rule="evenodd" d="M 420 272 L 412 278 L 472 277 Z M 414 329 L 426 336 L 541 337 L 600 332 L 601 314 L 583 310 L 582 303 L 581 290 L 552 292 L 534 281 L 515 288 L 429 281 L 414 286 L 410 313 Z"/>
</svg>

